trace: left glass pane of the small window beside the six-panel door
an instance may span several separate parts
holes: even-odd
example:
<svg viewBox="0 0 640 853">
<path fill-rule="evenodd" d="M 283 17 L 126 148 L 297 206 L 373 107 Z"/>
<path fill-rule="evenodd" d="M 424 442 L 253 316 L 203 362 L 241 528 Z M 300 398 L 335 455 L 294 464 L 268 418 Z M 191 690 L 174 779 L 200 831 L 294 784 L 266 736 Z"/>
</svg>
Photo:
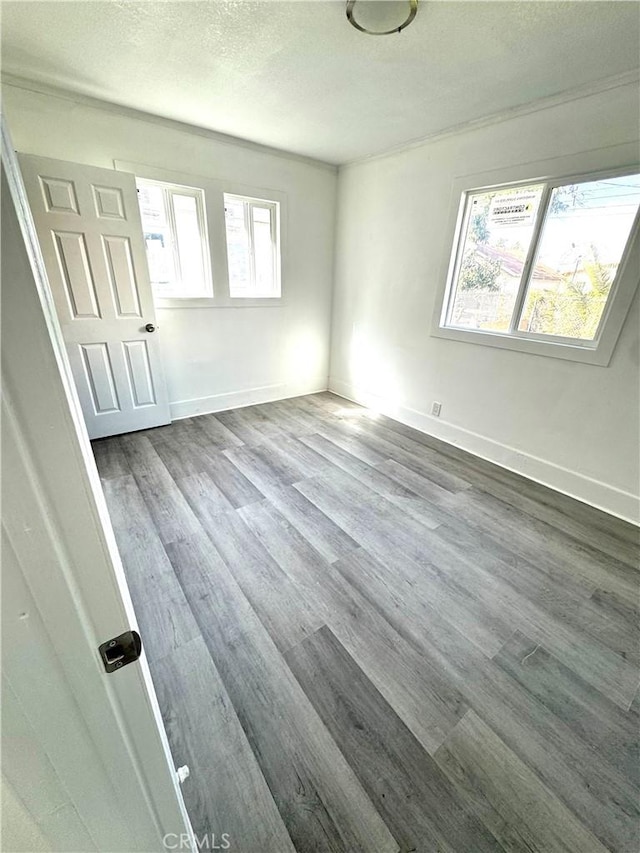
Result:
<svg viewBox="0 0 640 853">
<path fill-rule="evenodd" d="M 138 184 L 138 203 L 151 286 L 156 296 L 170 295 L 175 290 L 176 270 L 162 187 Z"/>
</svg>

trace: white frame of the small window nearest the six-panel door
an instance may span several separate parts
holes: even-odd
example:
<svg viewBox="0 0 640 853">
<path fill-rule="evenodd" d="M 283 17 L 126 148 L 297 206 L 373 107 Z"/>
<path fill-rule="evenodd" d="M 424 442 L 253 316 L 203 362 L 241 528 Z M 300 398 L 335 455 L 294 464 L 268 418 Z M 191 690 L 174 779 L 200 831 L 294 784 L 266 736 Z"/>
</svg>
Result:
<svg viewBox="0 0 640 853">
<path fill-rule="evenodd" d="M 158 295 L 153 289 L 153 282 L 151 283 L 154 303 L 163 304 L 167 300 L 177 300 L 178 302 L 183 302 L 185 300 L 192 299 L 212 299 L 214 295 L 214 290 L 213 279 L 211 275 L 211 251 L 209 249 L 204 189 L 200 187 L 186 186 L 183 184 L 176 184 L 172 182 L 170 183 L 168 181 L 152 180 L 150 178 L 145 178 L 140 175 L 136 175 L 136 186 L 144 184 L 151 184 L 152 186 L 159 187 L 162 190 L 163 195 L 165 196 L 167 221 L 169 224 L 169 230 L 171 232 L 171 251 L 173 255 L 173 268 L 176 276 L 177 290 L 175 293 L 166 294 L 164 296 Z M 175 209 L 173 205 L 174 195 L 188 196 L 190 198 L 195 199 L 196 202 L 198 230 L 200 233 L 200 251 L 202 253 L 202 269 L 204 274 L 204 289 L 198 293 L 194 293 L 193 291 L 190 293 L 179 292 L 181 289 L 184 288 L 185 282 L 182 278 L 180 251 L 178 248 L 177 226 L 175 219 Z"/>
</svg>

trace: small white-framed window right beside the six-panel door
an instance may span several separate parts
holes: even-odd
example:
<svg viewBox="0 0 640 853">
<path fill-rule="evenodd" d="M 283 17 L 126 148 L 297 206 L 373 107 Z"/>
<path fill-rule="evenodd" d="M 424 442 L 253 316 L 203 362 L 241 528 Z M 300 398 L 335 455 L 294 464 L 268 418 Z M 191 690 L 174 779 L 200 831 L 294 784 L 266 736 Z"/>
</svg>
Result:
<svg viewBox="0 0 640 853">
<path fill-rule="evenodd" d="M 158 181 L 136 183 L 154 296 L 213 296 L 204 192 Z"/>
</svg>

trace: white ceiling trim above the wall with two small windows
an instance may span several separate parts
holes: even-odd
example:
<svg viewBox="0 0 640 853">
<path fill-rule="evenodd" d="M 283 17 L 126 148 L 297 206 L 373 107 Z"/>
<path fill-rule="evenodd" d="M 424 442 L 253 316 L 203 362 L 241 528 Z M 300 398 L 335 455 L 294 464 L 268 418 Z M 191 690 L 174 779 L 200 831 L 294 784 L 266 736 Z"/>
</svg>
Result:
<svg viewBox="0 0 640 853">
<path fill-rule="evenodd" d="M 146 121 L 151 124 L 162 125 L 171 130 L 177 130 L 181 133 L 191 133 L 196 136 L 204 136 L 221 145 L 232 145 L 233 147 L 247 148 L 249 151 L 254 151 L 257 154 L 269 154 L 272 157 L 282 157 L 285 160 L 296 160 L 299 163 L 306 163 L 308 166 L 315 166 L 318 169 L 325 169 L 330 172 L 337 171 L 335 163 L 326 163 L 323 160 L 316 160 L 313 157 L 307 157 L 304 154 L 296 154 L 293 151 L 285 151 L 281 148 L 272 148 L 269 145 L 262 145 L 260 142 L 253 142 L 250 139 L 243 139 L 239 136 L 231 136 L 228 133 L 221 133 L 217 130 L 211 130 L 201 125 L 189 124 L 188 122 L 179 121 L 177 119 L 159 116 L 155 113 L 144 112 L 133 107 L 126 107 L 122 104 L 116 104 L 112 101 L 103 101 L 101 98 L 94 98 L 91 95 L 84 95 L 81 92 L 74 92 L 71 89 L 64 89 L 60 86 L 52 86 L 49 83 L 41 83 L 37 80 L 30 80 L 28 77 L 21 77 L 17 74 L 2 74 L 2 84 L 4 86 L 12 86 L 14 89 L 24 89 L 27 92 L 35 92 L 38 95 L 47 95 L 50 98 L 60 98 L 64 101 L 72 101 L 75 104 L 81 104 L 85 107 L 91 107 L 104 112 L 116 113 L 118 115 L 133 118 L 137 121 Z"/>
</svg>

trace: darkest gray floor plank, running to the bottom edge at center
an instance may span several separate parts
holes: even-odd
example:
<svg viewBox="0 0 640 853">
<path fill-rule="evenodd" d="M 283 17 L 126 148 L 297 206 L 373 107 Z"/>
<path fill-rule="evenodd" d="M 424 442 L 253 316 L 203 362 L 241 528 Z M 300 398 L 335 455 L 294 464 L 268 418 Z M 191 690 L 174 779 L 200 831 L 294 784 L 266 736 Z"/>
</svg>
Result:
<svg viewBox="0 0 640 853">
<path fill-rule="evenodd" d="M 401 850 L 501 849 L 328 628 L 285 657 Z"/>
</svg>

